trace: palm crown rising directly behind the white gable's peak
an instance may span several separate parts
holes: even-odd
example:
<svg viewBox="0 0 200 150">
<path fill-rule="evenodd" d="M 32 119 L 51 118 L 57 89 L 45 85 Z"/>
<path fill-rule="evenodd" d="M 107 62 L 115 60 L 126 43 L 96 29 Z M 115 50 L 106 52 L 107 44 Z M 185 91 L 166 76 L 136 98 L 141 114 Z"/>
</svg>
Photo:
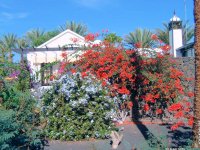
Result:
<svg viewBox="0 0 200 150">
<path fill-rule="evenodd" d="M 66 29 L 70 29 L 76 32 L 79 35 L 85 36 L 88 32 L 87 26 L 82 23 L 76 23 L 74 21 L 67 21 L 65 25 L 59 27 L 59 30 L 65 31 Z"/>
</svg>

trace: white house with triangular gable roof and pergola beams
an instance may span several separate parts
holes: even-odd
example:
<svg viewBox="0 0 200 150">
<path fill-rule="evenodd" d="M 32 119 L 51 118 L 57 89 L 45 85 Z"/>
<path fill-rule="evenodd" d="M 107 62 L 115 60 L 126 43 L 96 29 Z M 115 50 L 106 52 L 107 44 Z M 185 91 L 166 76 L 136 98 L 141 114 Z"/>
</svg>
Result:
<svg viewBox="0 0 200 150">
<path fill-rule="evenodd" d="M 42 85 L 47 85 L 49 82 L 47 77 L 58 72 L 59 63 L 40 72 L 41 68 L 49 63 L 62 61 L 61 54 L 63 52 L 66 52 L 68 54 L 67 58 L 73 62 L 83 53 L 80 49 L 89 44 L 92 45 L 93 42 L 86 42 L 84 37 L 68 29 L 36 48 L 14 51 L 27 56 L 35 81 L 41 82 Z"/>
</svg>

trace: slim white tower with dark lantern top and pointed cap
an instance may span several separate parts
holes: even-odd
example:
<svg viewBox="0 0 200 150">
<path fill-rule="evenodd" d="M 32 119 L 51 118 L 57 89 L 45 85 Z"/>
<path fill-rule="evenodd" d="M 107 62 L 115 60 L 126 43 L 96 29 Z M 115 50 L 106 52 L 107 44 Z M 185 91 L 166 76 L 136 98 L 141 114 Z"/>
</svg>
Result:
<svg viewBox="0 0 200 150">
<path fill-rule="evenodd" d="M 177 48 L 183 46 L 182 21 L 175 12 L 169 22 L 169 44 L 171 46 L 170 54 L 180 57 L 181 52 L 177 51 Z"/>
</svg>

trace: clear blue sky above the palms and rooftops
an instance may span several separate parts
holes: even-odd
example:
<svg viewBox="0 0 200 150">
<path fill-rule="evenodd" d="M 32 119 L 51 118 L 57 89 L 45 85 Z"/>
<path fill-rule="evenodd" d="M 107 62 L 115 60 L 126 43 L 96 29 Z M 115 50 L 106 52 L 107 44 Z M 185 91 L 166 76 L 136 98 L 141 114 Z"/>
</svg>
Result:
<svg viewBox="0 0 200 150">
<path fill-rule="evenodd" d="M 193 0 L 187 3 L 187 19 L 193 25 Z M 58 28 L 67 20 L 86 24 L 90 32 L 108 29 L 124 37 L 136 28 L 162 28 L 176 10 L 182 20 L 184 0 L 0 0 L 0 36 Z"/>
</svg>

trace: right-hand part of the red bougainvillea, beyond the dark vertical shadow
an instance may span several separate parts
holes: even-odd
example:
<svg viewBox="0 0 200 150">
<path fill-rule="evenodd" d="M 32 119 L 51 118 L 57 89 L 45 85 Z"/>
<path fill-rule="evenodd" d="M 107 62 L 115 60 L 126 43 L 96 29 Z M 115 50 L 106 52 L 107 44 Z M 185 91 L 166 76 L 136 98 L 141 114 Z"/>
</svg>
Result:
<svg viewBox="0 0 200 150">
<path fill-rule="evenodd" d="M 143 55 L 139 61 L 135 91 L 138 109 L 151 118 L 169 118 L 174 124 L 172 130 L 182 125 L 192 126 L 190 98 L 194 94 L 183 84 L 184 73 L 176 68 L 176 61 L 169 55 L 170 47 L 162 45 L 160 40 L 159 43 L 162 52 L 149 52 L 150 58 Z"/>
</svg>

